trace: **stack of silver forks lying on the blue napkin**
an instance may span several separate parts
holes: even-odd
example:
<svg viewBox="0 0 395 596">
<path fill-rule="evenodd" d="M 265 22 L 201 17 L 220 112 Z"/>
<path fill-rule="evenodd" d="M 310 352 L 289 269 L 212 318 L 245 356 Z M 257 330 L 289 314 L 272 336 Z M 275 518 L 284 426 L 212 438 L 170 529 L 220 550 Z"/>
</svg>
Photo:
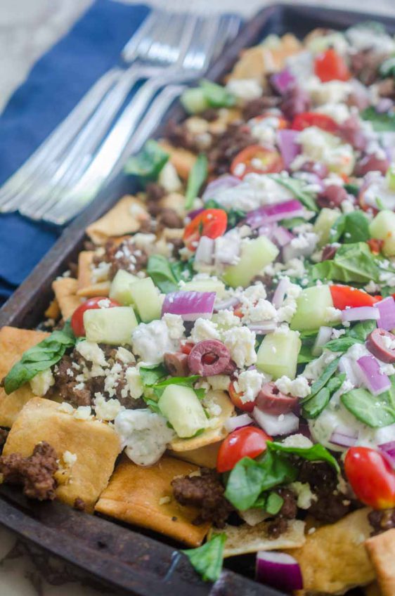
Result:
<svg viewBox="0 0 395 596">
<path fill-rule="evenodd" d="M 70 221 L 142 147 L 185 85 L 207 72 L 239 28 L 233 15 L 152 11 L 124 46 L 121 65 L 96 82 L 6 181 L 0 212 Z"/>
</svg>

